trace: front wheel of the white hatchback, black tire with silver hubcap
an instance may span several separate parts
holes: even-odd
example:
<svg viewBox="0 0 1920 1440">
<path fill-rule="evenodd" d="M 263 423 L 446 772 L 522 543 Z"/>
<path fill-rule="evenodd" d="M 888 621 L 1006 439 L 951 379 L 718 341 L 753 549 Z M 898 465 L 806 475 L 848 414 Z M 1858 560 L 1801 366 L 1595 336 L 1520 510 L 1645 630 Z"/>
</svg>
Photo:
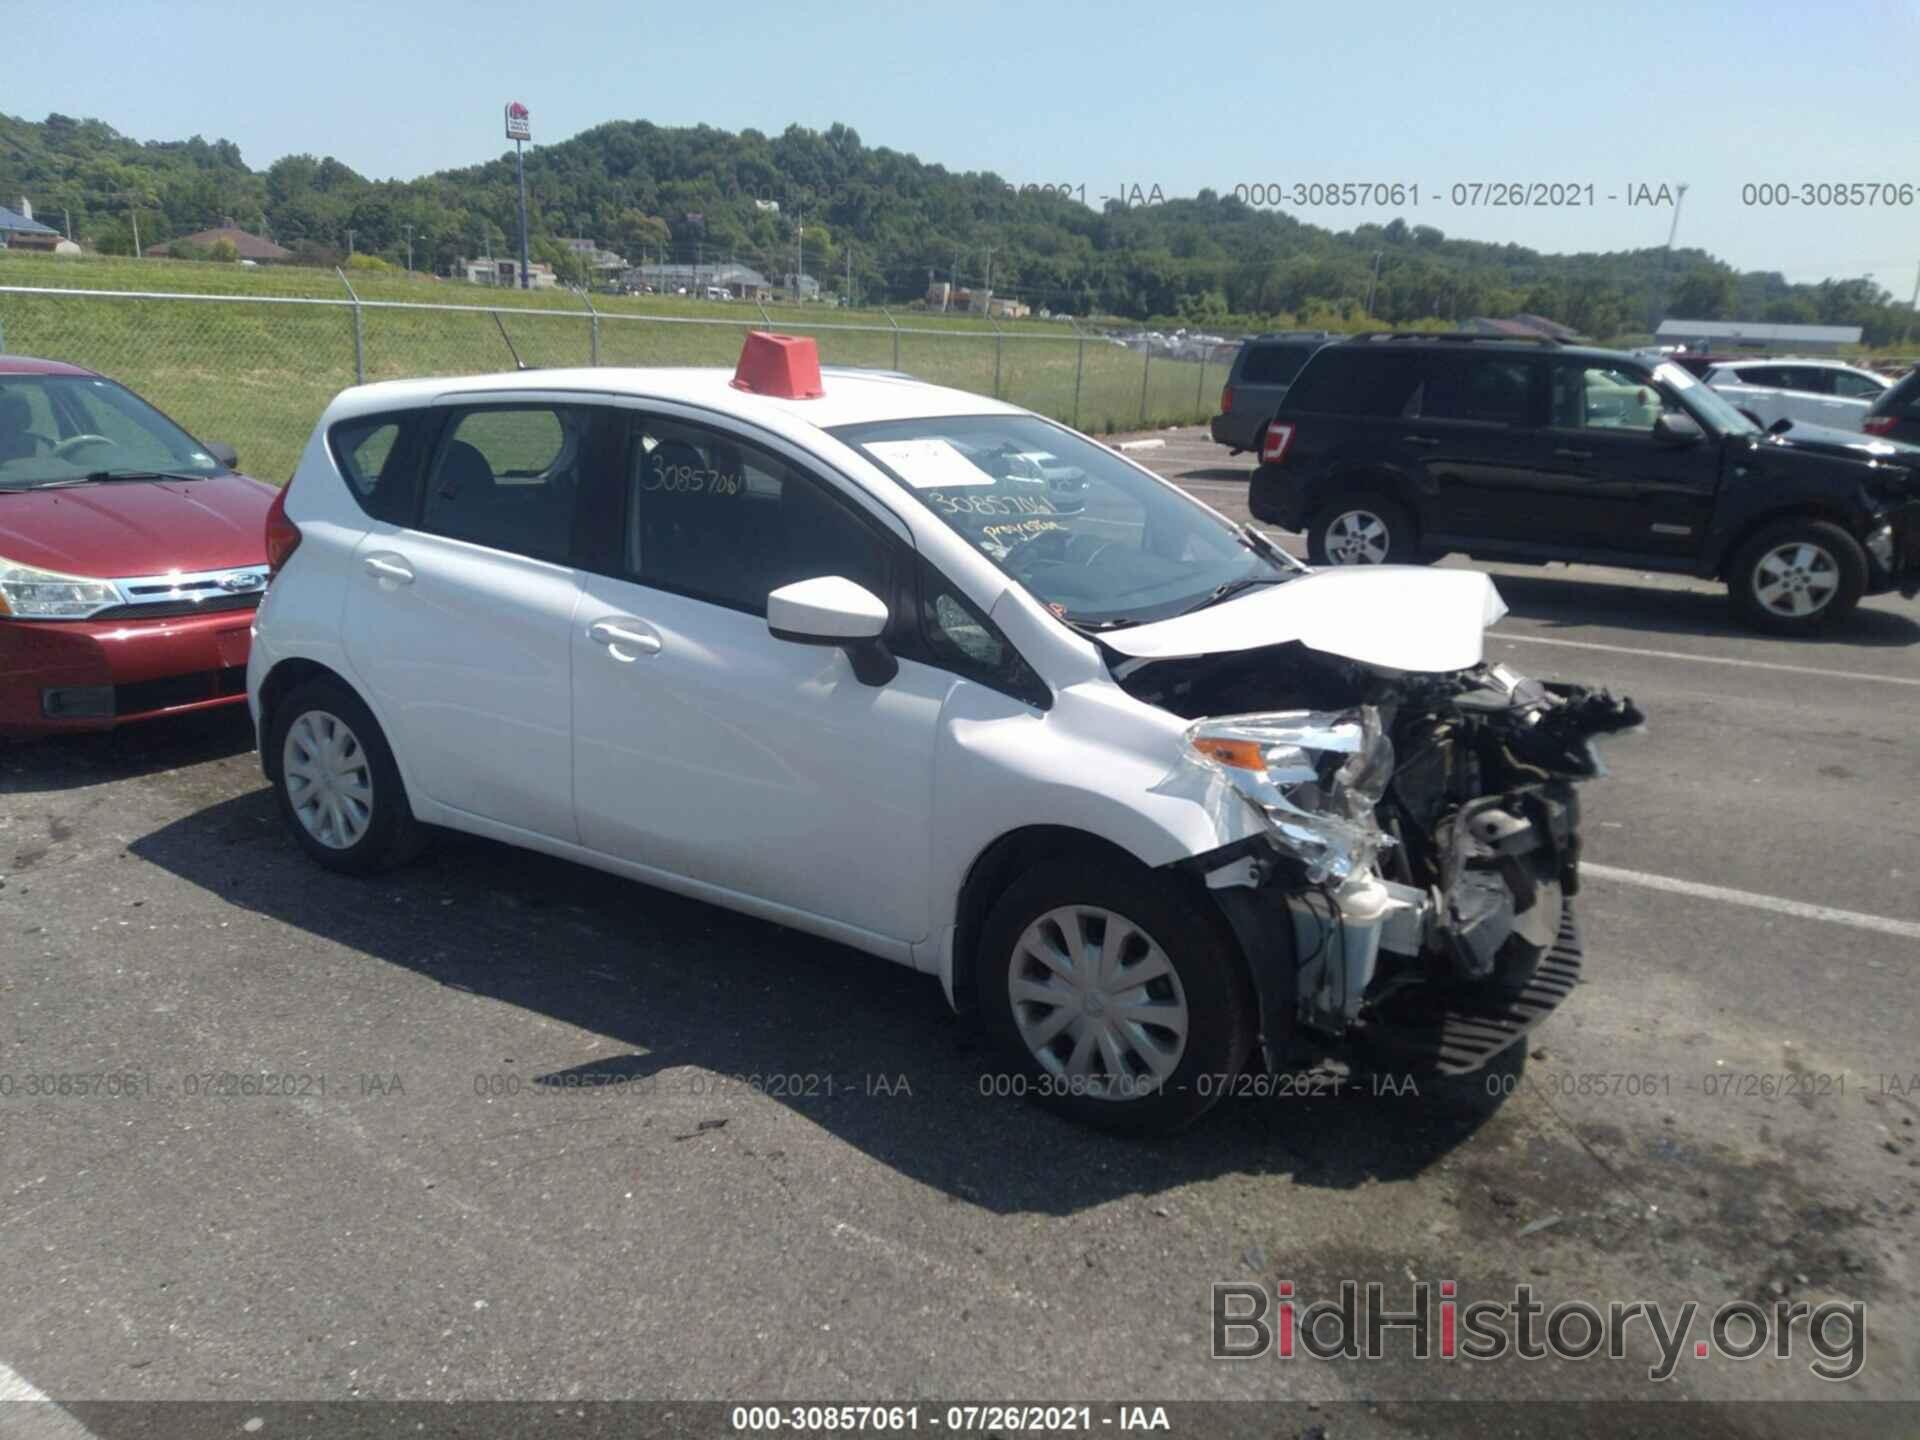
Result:
<svg viewBox="0 0 1920 1440">
<path fill-rule="evenodd" d="M 1119 964 L 1152 972 L 1116 985 L 1091 968 L 1087 985 L 1073 981 L 1069 954 L 1102 960 L 1114 925 L 1127 927 Z M 973 977 L 1012 1092 L 1096 1129 L 1165 1135 L 1190 1125 L 1254 1046 L 1254 989 L 1227 920 L 1204 895 L 1137 864 L 1052 860 L 1023 874 L 981 927 Z M 1016 985 L 1029 998 L 1016 1000 Z M 1110 1006 L 1177 1023 L 1123 1027 Z M 1077 1054 L 1085 1064 L 1073 1064 Z"/>
</svg>

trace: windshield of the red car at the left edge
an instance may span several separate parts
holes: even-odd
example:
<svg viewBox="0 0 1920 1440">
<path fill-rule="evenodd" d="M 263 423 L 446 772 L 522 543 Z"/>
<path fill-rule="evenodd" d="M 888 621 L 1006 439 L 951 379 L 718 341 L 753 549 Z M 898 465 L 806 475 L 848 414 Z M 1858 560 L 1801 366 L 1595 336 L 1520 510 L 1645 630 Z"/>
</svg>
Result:
<svg viewBox="0 0 1920 1440">
<path fill-rule="evenodd" d="M 0 490 L 90 474 L 221 474 L 190 434 L 96 374 L 0 374 Z"/>
</svg>

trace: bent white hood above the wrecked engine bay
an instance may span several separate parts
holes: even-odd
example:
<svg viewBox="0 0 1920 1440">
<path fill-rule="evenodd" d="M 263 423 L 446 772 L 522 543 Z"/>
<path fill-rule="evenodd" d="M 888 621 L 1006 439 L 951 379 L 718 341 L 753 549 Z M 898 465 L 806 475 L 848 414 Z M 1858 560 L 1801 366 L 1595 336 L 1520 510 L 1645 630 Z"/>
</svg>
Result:
<svg viewBox="0 0 1920 1440">
<path fill-rule="evenodd" d="M 1106 632 L 1100 643 L 1171 660 L 1300 641 L 1384 670 L 1448 672 L 1480 662 L 1486 628 L 1505 612 L 1478 570 L 1367 564 L 1313 570 L 1192 614 Z"/>
</svg>

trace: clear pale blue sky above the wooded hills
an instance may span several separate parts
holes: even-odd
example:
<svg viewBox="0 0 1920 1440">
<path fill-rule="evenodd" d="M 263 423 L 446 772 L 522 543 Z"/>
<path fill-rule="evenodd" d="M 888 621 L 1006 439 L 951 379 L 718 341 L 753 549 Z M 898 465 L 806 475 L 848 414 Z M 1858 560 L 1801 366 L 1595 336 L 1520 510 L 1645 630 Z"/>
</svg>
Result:
<svg viewBox="0 0 1920 1440">
<path fill-rule="evenodd" d="M 90 23 L 83 23 L 90 21 Z M 1907 298 L 1907 209 L 1763 209 L 1761 180 L 1907 180 L 1920 0 L 1880 4 L 1169 6 L 920 10 L 570 0 L 209 0 L 4 6 L 0 109 L 136 138 L 236 140 L 265 167 L 334 154 L 413 177 L 607 119 L 778 132 L 852 125 L 950 169 L 1167 196 L 1261 180 L 1417 180 L 1415 211 L 1296 209 L 1334 228 L 1404 213 L 1538 250 L 1661 244 L 1672 213 L 1607 202 L 1690 182 L 1680 244 L 1793 280 L 1872 275 Z M 1596 186 L 1596 209 L 1446 204 L 1455 182 Z M 1434 202 L 1432 196 L 1442 200 Z"/>
</svg>

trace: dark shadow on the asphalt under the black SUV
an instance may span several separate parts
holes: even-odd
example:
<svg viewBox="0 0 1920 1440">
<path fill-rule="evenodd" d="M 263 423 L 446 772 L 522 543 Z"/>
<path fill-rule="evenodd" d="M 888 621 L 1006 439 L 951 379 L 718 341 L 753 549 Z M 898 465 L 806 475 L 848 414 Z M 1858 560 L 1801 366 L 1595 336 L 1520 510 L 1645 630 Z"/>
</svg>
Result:
<svg viewBox="0 0 1920 1440">
<path fill-rule="evenodd" d="M 1807 643 L 1749 630 L 1734 616 L 1724 591 L 1668 589 L 1636 584 L 1624 576 L 1619 582 L 1607 582 L 1555 572 L 1515 574 L 1513 570 L 1494 574 L 1494 584 L 1500 586 L 1500 595 L 1513 614 L 1555 630 L 1620 626 L 1647 634 L 1772 641 L 1786 651 Z M 1860 649 L 1914 645 L 1920 643 L 1920 620 L 1866 601 L 1851 616 L 1820 632 L 1814 643 Z"/>
</svg>

